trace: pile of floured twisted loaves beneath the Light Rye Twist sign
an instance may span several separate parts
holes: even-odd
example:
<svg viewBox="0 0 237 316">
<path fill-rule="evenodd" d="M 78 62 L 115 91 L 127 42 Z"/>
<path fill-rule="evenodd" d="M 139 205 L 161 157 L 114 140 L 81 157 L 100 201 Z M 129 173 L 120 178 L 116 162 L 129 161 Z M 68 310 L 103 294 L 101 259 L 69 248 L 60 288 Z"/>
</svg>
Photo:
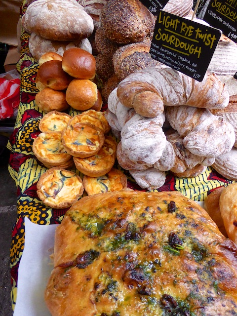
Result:
<svg viewBox="0 0 237 316">
<path fill-rule="evenodd" d="M 228 91 L 214 73 L 201 82 L 170 68 L 129 75 L 109 95 L 106 113 L 121 140 L 118 163 L 147 189 L 162 186 L 168 170 L 197 176 L 233 148 L 233 125 L 210 112 L 224 111 L 228 103 Z M 163 127 L 165 118 L 169 128 Z"/>
</svg>

